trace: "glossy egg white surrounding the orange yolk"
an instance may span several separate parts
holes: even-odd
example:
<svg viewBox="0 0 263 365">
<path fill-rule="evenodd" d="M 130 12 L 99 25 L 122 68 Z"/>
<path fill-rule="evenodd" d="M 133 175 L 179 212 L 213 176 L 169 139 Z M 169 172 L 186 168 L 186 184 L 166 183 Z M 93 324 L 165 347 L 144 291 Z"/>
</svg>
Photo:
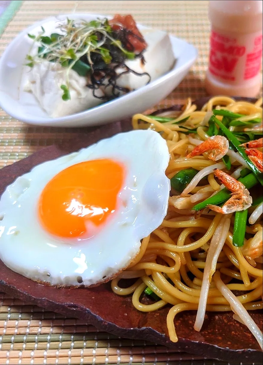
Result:
<svg viewBox="0 0 263 365">
<path fill-rule="evenodd" d="M 50 235 L 38 220 L 38 200 L 60 171 L 83 161 L 110 158 L 125 165 L 119 209 L 96 236 L 66 241 Z M 13 271 L 52 285 L 95 285 L 116 276 L 136 257 L 140 240 L 167 212 L 169 151 L 151 130 L 111 138 L 35 166 L 9 185 L 0 199 L 0 258 Z M 107 176 L 103 177 L 107 184 Z"/>
</svg>

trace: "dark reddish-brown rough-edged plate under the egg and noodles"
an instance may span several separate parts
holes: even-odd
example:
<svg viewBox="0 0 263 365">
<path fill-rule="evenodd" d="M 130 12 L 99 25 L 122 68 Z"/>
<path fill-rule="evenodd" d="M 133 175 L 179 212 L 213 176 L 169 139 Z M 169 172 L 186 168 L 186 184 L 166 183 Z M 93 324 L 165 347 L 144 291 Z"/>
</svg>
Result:
<svg viewBox="0 0 263 365">
<path fill-rule="evenodd" d="M 201 106 L 207 99 L 198 100 Z M 174 107 L 179 110 L 180 106 Z M 0 170 L 0 196 L 12 181 L 33 166 L 76 151 L 121 131 L 131 129 L 130 121 L 83 129 L 79 138 L 61 145 L 46 147 L 13 165 Z M 10 247 L 12 250 L 12 247 Z M 139 312 L 131 297 L 115 295 L 109 283 L 95 288 L 55 288 L 27 279 L 8 269 L 0 261 L 0 291 L 47 310 L 81 318 L 99 330 L 120 337 L 144 339 L 204 358 L 228 362 L 260 362 L 262 352 L 250 331 L 233 320 L 232 313 L 207 313 L 201 332 L 193 329 L 195 312 L 183 312 L 175 318 L 178 343 L 169 340 L 166 315 L 169 308 L 157 312 Z M 262 329 L 262 312 L 252 312 L 252 318 Z"/>
</svg>

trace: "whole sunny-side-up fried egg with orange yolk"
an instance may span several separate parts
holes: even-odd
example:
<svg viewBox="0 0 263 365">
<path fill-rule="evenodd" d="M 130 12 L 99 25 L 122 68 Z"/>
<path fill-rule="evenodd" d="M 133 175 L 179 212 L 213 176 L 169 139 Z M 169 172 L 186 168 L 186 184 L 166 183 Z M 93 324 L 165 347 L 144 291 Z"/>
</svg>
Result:
<svg viewBox="0 0 263 365">
<path fill-rule="evenodd" d="M 35 166 L 0 199 L 0 258 L 51 285 L 98 285 L 125 269 L 167 212 L 169 151 L 138 130 Z"/>
</svg>

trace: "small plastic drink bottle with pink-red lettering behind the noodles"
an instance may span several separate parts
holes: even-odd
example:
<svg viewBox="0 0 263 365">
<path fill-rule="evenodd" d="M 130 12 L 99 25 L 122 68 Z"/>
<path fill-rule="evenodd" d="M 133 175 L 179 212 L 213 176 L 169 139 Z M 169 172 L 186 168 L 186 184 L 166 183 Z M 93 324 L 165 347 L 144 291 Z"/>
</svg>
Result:
<svg viewBox="0 0 263 365">
<path fill-rule="evenodd" d="M 262 0 L 209 1 L 211 95 L 254 97 L 262 82 Z"/>
</svg>

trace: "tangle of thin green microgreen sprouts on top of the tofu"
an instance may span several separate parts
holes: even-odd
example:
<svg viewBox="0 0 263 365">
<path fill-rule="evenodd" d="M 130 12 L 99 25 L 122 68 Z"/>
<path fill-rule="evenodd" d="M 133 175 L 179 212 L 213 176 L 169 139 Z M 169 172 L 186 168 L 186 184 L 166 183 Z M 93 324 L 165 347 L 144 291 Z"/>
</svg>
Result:
<svg viewBox="0 0 263 365">
<path fill-rule="evenodd" d="M 80 76 L 90 78 L 91 85 L 87 85 L 93 89 L 94 96 L 96 96 L 94 90 L 98 88 L 98 85 L 108 86 L 103 83 L 108 75 L 109 85 L 113 87 L 113 91 L 115 88 L 118 91 L 121 90 L 114 84 L 119 77 L 115 72 L 116 66 L 124 66 L 125 73 L 134 72 L 124 65 L 124 61 L 134 59 L 139 55 L 125 49 L 125 45 L 120 39 L 117 39 L 116 31 L 112 30 L 107 19 L 97 19 L 91 22 L 85 20 L 76 22 L 67 19 L 66 22 L 59 24 L 57 29 L 57 33 L 49 36 L 45 35 L 43 27 L 39 35 L 28 34 L 28 37 L 37 43 L 38 51 L 34 56 L 27 55 L 27 66 L 32 68 L 36 63 L 45 59 L 66 68 L 66 82 L 65 85 L 61 85 L 63 100 L 70 99 L 71 69 Z M 92 77 L 94 72 L 98 74 L 96 77 Z M 118 95 L 113 92 L 113 96 Z"/>
</svg>

